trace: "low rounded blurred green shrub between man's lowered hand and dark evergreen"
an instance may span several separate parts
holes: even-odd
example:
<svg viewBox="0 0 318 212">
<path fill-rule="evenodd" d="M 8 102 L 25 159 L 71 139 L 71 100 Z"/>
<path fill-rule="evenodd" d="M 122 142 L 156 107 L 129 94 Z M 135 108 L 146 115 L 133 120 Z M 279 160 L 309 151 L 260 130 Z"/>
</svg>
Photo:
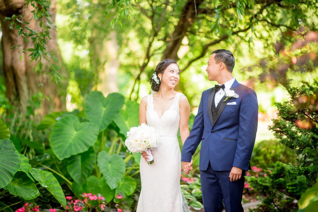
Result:
<svg viewBox="0 0 318 212">
<path fill-rule="evenodd" d="M 252 166 L 261 169 L 271 168 L 274 163 L 292 163 L 296 165 L 297 155 L 286 145 L 277 140 L 261 141 L 254 146 Z"/>
</svg>

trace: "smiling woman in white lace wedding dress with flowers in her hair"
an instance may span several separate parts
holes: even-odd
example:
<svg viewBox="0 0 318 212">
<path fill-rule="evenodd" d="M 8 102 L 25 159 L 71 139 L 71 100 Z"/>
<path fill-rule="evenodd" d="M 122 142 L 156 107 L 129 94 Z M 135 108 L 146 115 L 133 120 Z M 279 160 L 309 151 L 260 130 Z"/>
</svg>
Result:
<svg viewBox="0 0 318 212">
<path fill-rule="evenodd" d="M 178 129 L 182 143 L 189 136 L 190 105 L 186 96 L 174 90 L 180 79 L 175 60 L 165 59 L 156 66 L 150 79 L 155 94 L 142 98 L 139 124 L 147 123 L 160 135 L 160 144 L 152 149 L 154 163 L 142 152 L 140 161 L 141 193 L 137 212 L 184 212 L 188 205 L 180 188 L 181 156 L 177 139 Z"/>
</svg>

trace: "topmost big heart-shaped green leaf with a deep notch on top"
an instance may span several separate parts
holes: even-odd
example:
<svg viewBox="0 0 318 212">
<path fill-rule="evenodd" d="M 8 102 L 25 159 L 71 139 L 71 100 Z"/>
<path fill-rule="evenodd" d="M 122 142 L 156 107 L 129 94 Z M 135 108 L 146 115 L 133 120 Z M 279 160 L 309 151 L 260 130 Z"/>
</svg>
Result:
<svg viewBox="0 0 318 212">
<path fill-rule="evenodd" d="M 99 131 L 103 131 L 118 116 L 125 98 L 119 93 L 111 93 L 105 98 L 101 92 L 92 91 L 87 95 L 85 103 L 86 116 L 91 122 L 98 124 Z"/>
</svg>

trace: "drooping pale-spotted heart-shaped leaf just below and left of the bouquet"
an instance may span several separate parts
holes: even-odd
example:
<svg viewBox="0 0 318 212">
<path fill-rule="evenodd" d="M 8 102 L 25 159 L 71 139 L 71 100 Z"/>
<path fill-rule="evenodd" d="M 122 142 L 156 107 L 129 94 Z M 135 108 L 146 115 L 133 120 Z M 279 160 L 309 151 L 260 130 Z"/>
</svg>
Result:
<svg viewBox="0 0 318 212">
<path fill-rule="evenodd" d="M 97 165 L 109 187 L 115 189 L 126 170 L 124 160 L 117 154 L 108 156 L 107 152 L 100 151 L 97 156 Z"/>
</svg>

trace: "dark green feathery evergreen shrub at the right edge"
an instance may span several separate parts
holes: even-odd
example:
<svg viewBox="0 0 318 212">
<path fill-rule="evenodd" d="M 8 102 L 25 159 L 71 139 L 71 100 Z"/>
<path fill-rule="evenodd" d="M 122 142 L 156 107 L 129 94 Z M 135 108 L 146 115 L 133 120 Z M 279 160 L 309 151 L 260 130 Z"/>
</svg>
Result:
<svg viewBox="0 0 318 212">
<path fill-rule="evenodd" d="M 276 103 L 279 117 L 273 119 L 273 125 L 269 129 L 282 144 L 293 149 L 297 154 L 297 163 L 287 165 L 278 161 L 272 167 L 270 163 L 268 166 L 265 163 L 265 167 L 270 167 L 267 176 L 247 177 L 250 185 L 265 196 L 262 204 L 252 211 L 297 211 L 295 200 L 299 200 L 301 194 L 313 186 L 318 173 L 318 82 L 291 87 L 290 82 L 285 81 L 283 85 L 290 94 L 290 99 L 284 103 Z M 285 162 L 294 163 L 293 160 Z"/>
</svg>

